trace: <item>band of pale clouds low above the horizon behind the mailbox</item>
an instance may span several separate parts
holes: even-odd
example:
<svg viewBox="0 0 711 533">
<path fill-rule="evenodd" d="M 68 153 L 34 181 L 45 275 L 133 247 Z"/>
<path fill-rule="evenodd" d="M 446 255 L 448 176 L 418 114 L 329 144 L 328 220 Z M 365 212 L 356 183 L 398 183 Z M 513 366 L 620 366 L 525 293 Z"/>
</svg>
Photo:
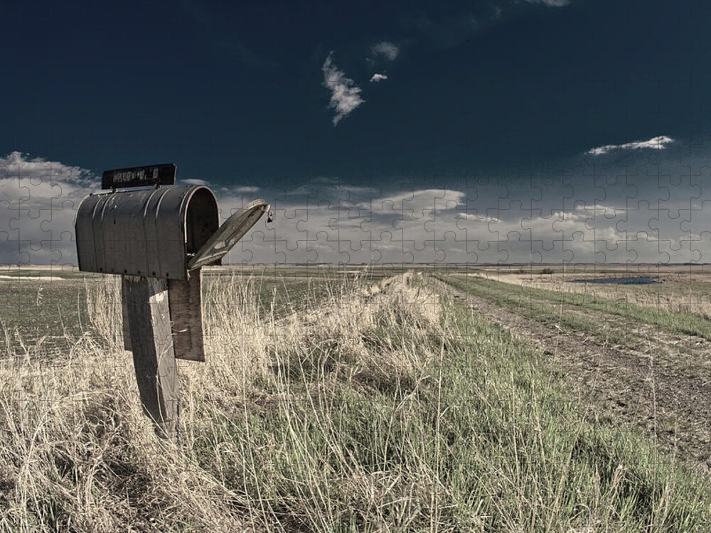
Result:
<svg viewBox="0 0 711 533">
<path fill-rule="evenodd" d="M 0 158 L 0 168 L 0 264 L 75 264 L 75 209 L 98 189 L 97 177 L 18 152 Z M 628 177 L 606 185 L 602 201 L 599 188 L 571 195 L 570 185 L 545 180 L 528 189 L 482 181 L 384 192 L 316 178 L 279 195 L 213 190 L 223 218 L 257 194 L 276 215 L 237 244 L 232 263 L 711 262 L 711 203 L 700 200 L 709 176 L 700 170 L 646 190 L 647 176 Z"/>
</svg>

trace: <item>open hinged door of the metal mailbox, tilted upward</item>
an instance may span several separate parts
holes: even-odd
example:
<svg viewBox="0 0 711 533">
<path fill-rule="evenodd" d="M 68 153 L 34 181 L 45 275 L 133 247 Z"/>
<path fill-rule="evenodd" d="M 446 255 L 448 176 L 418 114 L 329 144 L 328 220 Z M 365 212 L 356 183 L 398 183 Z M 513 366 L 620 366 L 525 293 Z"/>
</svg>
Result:
<svg viewBox="0 0 711 533">
<path fill-rule="evenodd" d="M 269 213 L 267 222 L 271 222 L 272 213 L 269 211 L 269 204 L 264 200 L 255 200 L 234 212 L 188 261 L 188 270 L 220 261 L 265 212 Z"/>
</svg>

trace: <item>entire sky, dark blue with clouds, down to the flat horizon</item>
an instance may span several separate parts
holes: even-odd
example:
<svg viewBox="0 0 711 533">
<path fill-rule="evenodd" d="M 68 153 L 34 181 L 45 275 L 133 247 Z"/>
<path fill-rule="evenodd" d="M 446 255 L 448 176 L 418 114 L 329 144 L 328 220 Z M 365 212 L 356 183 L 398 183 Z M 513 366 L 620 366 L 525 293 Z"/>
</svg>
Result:
<svg viewBox="0 0 711 533">
<path fill-rule="evenodd" d="M 2 8 L 0 264 L 169 161 L 272 204 L 233 262 L 711 262 L 710 2 Z"/>
</svg>

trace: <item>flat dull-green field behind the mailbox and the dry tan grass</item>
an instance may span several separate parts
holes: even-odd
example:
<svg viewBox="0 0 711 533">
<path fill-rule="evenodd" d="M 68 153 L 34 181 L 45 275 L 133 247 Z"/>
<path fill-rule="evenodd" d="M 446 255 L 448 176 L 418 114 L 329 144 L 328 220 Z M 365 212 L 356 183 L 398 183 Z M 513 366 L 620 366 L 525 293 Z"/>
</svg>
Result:
<svg viewBox="0 0 711 533">
<path fill-rule="evenodd" d="M 203 305 L 205 312 L 219 305 L 215 298 L 220 285 L 242 285 L 260 313 L 277 316 L 304 308 L 314 300 L 328 296 L 341 280 L 380 279 L 389 272 L 363 268 L 306 267 L 211 267 L 203 269 Z M 22 353 L 41 341 L 44 355 L 62 355 L 82 333 L 91 331 L 87 292 L 106 283 L 118 283 L 118 276 L 82 274 L 69 269 L 35 267 L 12 269 L 0 274 L 0 326 L 6 352 Z M 246 292 L 245 292 L 246 291 Z M 239 296 L 239 295 L 237 295 Z M 114 302 L 116 303 L 116 302 Z M 114 310 L 115 312 L 115 310 Z"/>
</svg>

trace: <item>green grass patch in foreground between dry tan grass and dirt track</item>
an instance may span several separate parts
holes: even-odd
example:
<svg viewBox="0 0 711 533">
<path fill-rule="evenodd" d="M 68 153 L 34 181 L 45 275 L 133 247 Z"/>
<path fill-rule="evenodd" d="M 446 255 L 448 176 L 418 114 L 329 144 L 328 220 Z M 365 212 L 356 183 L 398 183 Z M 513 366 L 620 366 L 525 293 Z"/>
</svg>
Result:
<svg viewBox="0 0 711 533">
<path fill-rule="evenodd" d="M 416 340 L 432 355 L 418 370 L 374 380 L 372 369 L 343 372 L 353 354 L 338 342 L 315 348 L 296 368 L 274 368 L 264 387 L 289 397 L 272 409 L 205 413 L 196 461 L 295 531 L 711 524 L 706 480 L 633 430 L 586 421 L 540 352 L 463 307 L 447 308 L 444 335 L 413 335 L 400 318 L 363 338 L 383 360 Z"/>
</svg>

